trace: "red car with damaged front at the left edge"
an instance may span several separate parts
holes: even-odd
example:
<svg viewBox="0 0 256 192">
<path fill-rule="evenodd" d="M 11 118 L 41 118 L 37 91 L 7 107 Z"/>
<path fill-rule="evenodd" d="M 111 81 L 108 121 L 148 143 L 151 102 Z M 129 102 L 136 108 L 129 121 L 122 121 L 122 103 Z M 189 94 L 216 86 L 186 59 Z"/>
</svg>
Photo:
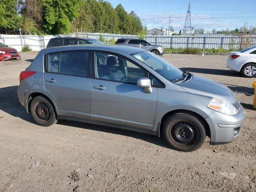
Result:
<svg viewBox="0 0 256 192">
<path fill-rule="evenodd" d="M 13 58 L 20 59 L 20 54 L 18 53 L 18 51 L 14 48 L 8 47 L 7 45 L 0 43 L 0 61 L 5 61 Z"/>
</svg>

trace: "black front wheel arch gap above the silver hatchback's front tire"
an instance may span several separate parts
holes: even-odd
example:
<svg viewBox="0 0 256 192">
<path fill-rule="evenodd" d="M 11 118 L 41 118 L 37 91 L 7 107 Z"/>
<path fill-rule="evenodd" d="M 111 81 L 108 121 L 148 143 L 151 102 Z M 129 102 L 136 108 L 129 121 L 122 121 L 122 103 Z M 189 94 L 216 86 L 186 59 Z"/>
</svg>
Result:
<svg viewBox="0 0 256 192">
<path fill-rule="evenodd" d="M 209 124 L 206 122 L 206 120 L 198 113 L 190 111 L 190 110 L 172 110 L 167 112 L 166 114 L 164 114 L 164 116 L 161 119 L 161 123 L 160 123 L 160 127 L 159 127 L 159 134 L 161 136 L 162 134 L 162 129 L 164 126 L 164 122 L 168 119 L 168 117 L 170 117 L 172 114 L 178 113 L 178 112 L 189 112 L 190 114 L 194 114 L 195 116 L 197 116 L 198 118 L 200 118 L 200 120 L 204 123 L 204 127 L 206 129 L 206 136 L 208 136 L 209 138 L 211 138 L 211 130 L 210 130 L 210 126 Z"/>
</svg>

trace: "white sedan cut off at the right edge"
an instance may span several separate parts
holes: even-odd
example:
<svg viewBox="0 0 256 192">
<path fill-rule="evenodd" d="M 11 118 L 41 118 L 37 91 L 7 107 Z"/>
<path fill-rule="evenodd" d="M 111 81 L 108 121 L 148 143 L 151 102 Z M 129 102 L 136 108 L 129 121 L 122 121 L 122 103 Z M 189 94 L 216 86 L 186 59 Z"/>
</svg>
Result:
<svg viewBox="0 0 256 192">
<path fill-rule="evenodd" d="M 241 72 L 244 77 L 256 77 L 256 46 L 230 52 L 227 67 Z"/>
</svg>

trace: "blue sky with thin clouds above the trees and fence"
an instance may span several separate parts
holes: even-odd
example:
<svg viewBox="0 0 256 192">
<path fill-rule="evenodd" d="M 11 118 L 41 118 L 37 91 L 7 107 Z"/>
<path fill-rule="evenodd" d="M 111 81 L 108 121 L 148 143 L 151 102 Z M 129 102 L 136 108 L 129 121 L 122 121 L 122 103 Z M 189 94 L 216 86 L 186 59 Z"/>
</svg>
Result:
<svg viewBox="0 0 256 192">
<path fill-rule="evenodd" d="M 244 22 L 256 26 L 256 0 L 108 0 L 114 7 L 122 4 L 134 11 L 151 28 L 168 28 L 169 14 L 175 32 L 183 29 L 190 2 L 191 25 L 204 32 L 240 28 Z"/>
</svg>

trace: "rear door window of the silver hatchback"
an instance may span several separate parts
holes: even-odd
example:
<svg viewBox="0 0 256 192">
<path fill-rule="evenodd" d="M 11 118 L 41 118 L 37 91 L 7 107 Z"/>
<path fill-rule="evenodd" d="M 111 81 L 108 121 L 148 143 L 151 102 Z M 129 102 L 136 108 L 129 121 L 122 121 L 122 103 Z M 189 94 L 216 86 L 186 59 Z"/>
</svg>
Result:
<svg viewBox="0 0 256 192">
<path fill-rule="evenodd" d="M 47 56 L 48 72 L 65 75 L 89 77 L 90 52 L 62 52 Z"/>
</svg>

